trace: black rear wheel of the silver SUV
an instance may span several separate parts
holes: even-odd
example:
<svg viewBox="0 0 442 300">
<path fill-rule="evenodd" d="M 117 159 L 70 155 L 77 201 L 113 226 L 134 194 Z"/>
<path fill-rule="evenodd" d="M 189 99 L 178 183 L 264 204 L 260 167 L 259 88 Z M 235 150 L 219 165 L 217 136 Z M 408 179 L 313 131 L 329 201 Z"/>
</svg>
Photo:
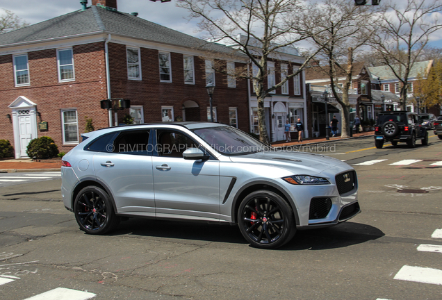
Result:
<svg viewBox="0 0 442 300">
<path fill-rule="evenodd" d="M 83 188 L 77 194 L 74 214 L 80 229 L 92 235 L 108 233 L 119 223 L 109 195 L 93 185 Z"/>
</svg>

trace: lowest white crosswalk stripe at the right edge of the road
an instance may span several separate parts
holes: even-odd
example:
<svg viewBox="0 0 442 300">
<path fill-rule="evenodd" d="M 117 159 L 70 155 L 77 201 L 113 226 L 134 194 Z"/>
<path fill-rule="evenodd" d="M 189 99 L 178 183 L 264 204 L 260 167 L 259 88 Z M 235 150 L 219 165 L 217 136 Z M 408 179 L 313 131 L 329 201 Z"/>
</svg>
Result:
<svg viewBox="0 0 442 300">
<path fill-rule="evenodd" d="M 394 279 L 442 285 L 442 271 L 427 267 L 411 267 L 404 265 Z"/>
</svg>

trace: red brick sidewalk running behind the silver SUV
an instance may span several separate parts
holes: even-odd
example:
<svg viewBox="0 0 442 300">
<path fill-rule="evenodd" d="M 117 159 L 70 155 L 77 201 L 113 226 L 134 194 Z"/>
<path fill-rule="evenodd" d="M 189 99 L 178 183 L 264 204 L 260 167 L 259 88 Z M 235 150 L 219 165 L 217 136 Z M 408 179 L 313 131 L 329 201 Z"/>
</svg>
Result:
<svg viewBox="0 0 442 300">
<path fill-rule="evenodd" d="M 367 131 L 363 133 L 353 134 L 352 138 L 368 138 L 373 136 L 374 131 Z M 297 142 L 297 140 L 291 140 L 290 142 L 273 142 L 273 147 L 290 147 L 290 146 L 300 146 L 305 144 L 318 144 L 322 142 L 336 142 L 338 140 L 347 140 L 352 138 L 341 138 L 337 136 L 336 138 L 331 138 L 330 140 L 325 140 L 325 137 L 320 138 L 306 138 L 303 142 Z M 49 171 L 60 171 L 61 162 L 60 160 L 42 160 L 40 162 L 32 161 L 31 159 L 10 159 L 10 160 L 0 160 L 0 173 L 15 173 L 15 172 L 49 172 Z"/>
</svg>

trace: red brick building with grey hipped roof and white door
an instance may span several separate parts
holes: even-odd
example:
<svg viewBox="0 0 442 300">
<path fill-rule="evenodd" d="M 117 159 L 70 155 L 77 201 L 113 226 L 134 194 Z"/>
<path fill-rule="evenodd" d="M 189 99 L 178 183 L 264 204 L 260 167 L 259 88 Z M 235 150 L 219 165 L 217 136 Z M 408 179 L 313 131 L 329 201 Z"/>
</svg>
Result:
<svg viewBox="0 0 442 300">
<path fill-rule="evenodd" d="M 22 158 L 41 136 L 69 151 L 81 141 L 85 117 L 95 129 L 120 124 L 126 114 L 135 123 L 207 121 L 207 85 L 215 85 L 213 119 L 248 132 L 247 81 L 215 74 L 213 59 L 227 68 L 247 63 L 224 45 L 119 12 L 116 0 L 83 3 L 0 35 L 0 139 Z M 101 100 L 115 98 L 131 100 L 131 108 L 101 109 Z"/>
</svg>

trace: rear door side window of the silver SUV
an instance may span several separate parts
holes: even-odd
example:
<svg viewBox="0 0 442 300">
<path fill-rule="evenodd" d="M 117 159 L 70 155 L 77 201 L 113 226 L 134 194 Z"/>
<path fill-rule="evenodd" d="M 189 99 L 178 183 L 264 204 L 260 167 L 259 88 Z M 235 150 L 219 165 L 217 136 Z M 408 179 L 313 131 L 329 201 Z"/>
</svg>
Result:
<svg viewBox="0 0 442 300">
<path fill-rule="evenodd" d="M 149 147 L 149 130 L 121 131 L 113 142 L 113 153 L 147 155 Z"/>
</svg>

